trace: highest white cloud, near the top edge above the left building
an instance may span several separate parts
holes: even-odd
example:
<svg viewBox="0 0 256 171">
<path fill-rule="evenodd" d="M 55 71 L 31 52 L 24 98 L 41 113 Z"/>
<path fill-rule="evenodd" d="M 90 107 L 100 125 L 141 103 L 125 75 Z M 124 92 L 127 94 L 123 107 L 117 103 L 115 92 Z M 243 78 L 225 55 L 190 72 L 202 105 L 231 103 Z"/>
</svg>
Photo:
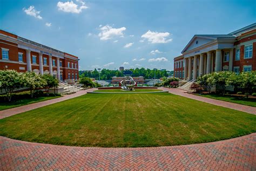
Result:
<svg viewBox="0 0 256 171">
<path fill-rule="evenodd" d="M 82 5 L 77 5 L 73 3 L 73 1 L 67 1 L 67 2 L 58 2 L 58 10 L 64 11 L 64 12 L 71 12 L 71 13 L 80 13 L 83 9 L 87 9 L 88 6 L 85 5 L 83 1 L 77 0 Z"/>
</svg>

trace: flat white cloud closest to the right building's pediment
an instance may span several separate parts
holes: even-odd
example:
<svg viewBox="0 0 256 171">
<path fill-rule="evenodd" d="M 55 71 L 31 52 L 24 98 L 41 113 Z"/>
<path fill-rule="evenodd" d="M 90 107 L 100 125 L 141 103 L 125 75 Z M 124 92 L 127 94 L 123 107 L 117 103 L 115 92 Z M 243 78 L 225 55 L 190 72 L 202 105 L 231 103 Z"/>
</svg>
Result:
<svg viewBox="0 0 256 171">
<path fill-rule="evenodd" d="M 169 36 L 169 32 L 159 33 L 149 30 L 144 35 L 142 35 L 142 38 L 147 39 L 147 41 L 150 43 L 168 43 L 172 41 L 172 39 L 167 39 Z"/>
</svg>

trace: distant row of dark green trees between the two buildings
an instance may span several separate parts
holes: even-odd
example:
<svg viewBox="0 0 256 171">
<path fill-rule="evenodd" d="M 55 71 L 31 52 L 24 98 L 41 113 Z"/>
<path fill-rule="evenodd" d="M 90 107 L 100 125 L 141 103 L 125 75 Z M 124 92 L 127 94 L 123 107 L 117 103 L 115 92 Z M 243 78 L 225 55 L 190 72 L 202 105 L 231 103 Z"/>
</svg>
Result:
<svg viewBox="0 0 256 171">
<path fill-rule="evenodd" d="M 128 72 L 127 72 L 128 71 Z M 119 70 L 107 70 L 103 69 L 100 71 L 100 80 L 111 80 L 112 77 L 123 77 L 125 72 L 129 73 L 131 72 L 131 77 L 144 77 L 144 79 L 152 79 L 155 77 L 156 73 L 156 79 L 168 77 L 169 75 L 173 74 L 173 71 L 166 71 L 166 70 L 150 70 L 150 69 L 144 69 L 143 67 L 141 69 L 129 69 L 124 71 Z M 93 71 L 79 71 L 79 77 L 89 77 L 89 78 L 95 78 L 99 79 L 99 72 L 95 69 Z"/>
</svg>

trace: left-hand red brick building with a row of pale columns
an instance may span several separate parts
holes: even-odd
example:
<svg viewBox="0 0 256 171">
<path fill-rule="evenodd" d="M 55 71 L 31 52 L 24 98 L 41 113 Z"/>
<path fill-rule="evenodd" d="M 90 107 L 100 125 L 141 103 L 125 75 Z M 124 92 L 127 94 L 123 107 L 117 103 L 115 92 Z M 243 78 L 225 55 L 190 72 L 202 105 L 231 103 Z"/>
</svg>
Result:
<svg viewBox="0 0 256 171">
<path fill-rule="evenodd" d="M 59 80 L 77 80 L 78 57 L 0 30 L 0 70 L 51 74 Z"/>
</svg>

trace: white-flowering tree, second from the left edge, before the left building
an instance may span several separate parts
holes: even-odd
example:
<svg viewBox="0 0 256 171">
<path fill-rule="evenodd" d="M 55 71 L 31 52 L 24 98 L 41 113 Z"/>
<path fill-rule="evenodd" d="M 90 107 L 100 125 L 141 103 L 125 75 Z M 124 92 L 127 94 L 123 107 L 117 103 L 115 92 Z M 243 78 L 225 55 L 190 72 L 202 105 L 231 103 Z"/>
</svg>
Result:
<svg viewBox="0 0 256 171">
<path fill-rule="evenodd" d="M 47 84 L 42 76 L 35 72 L 25 72 L 23 76 L 25 80 L 24 85 L 29 88 L 31 98 L 33 98 L 33 93 L 37 88 L 43 88 Z"/>
</svg>

